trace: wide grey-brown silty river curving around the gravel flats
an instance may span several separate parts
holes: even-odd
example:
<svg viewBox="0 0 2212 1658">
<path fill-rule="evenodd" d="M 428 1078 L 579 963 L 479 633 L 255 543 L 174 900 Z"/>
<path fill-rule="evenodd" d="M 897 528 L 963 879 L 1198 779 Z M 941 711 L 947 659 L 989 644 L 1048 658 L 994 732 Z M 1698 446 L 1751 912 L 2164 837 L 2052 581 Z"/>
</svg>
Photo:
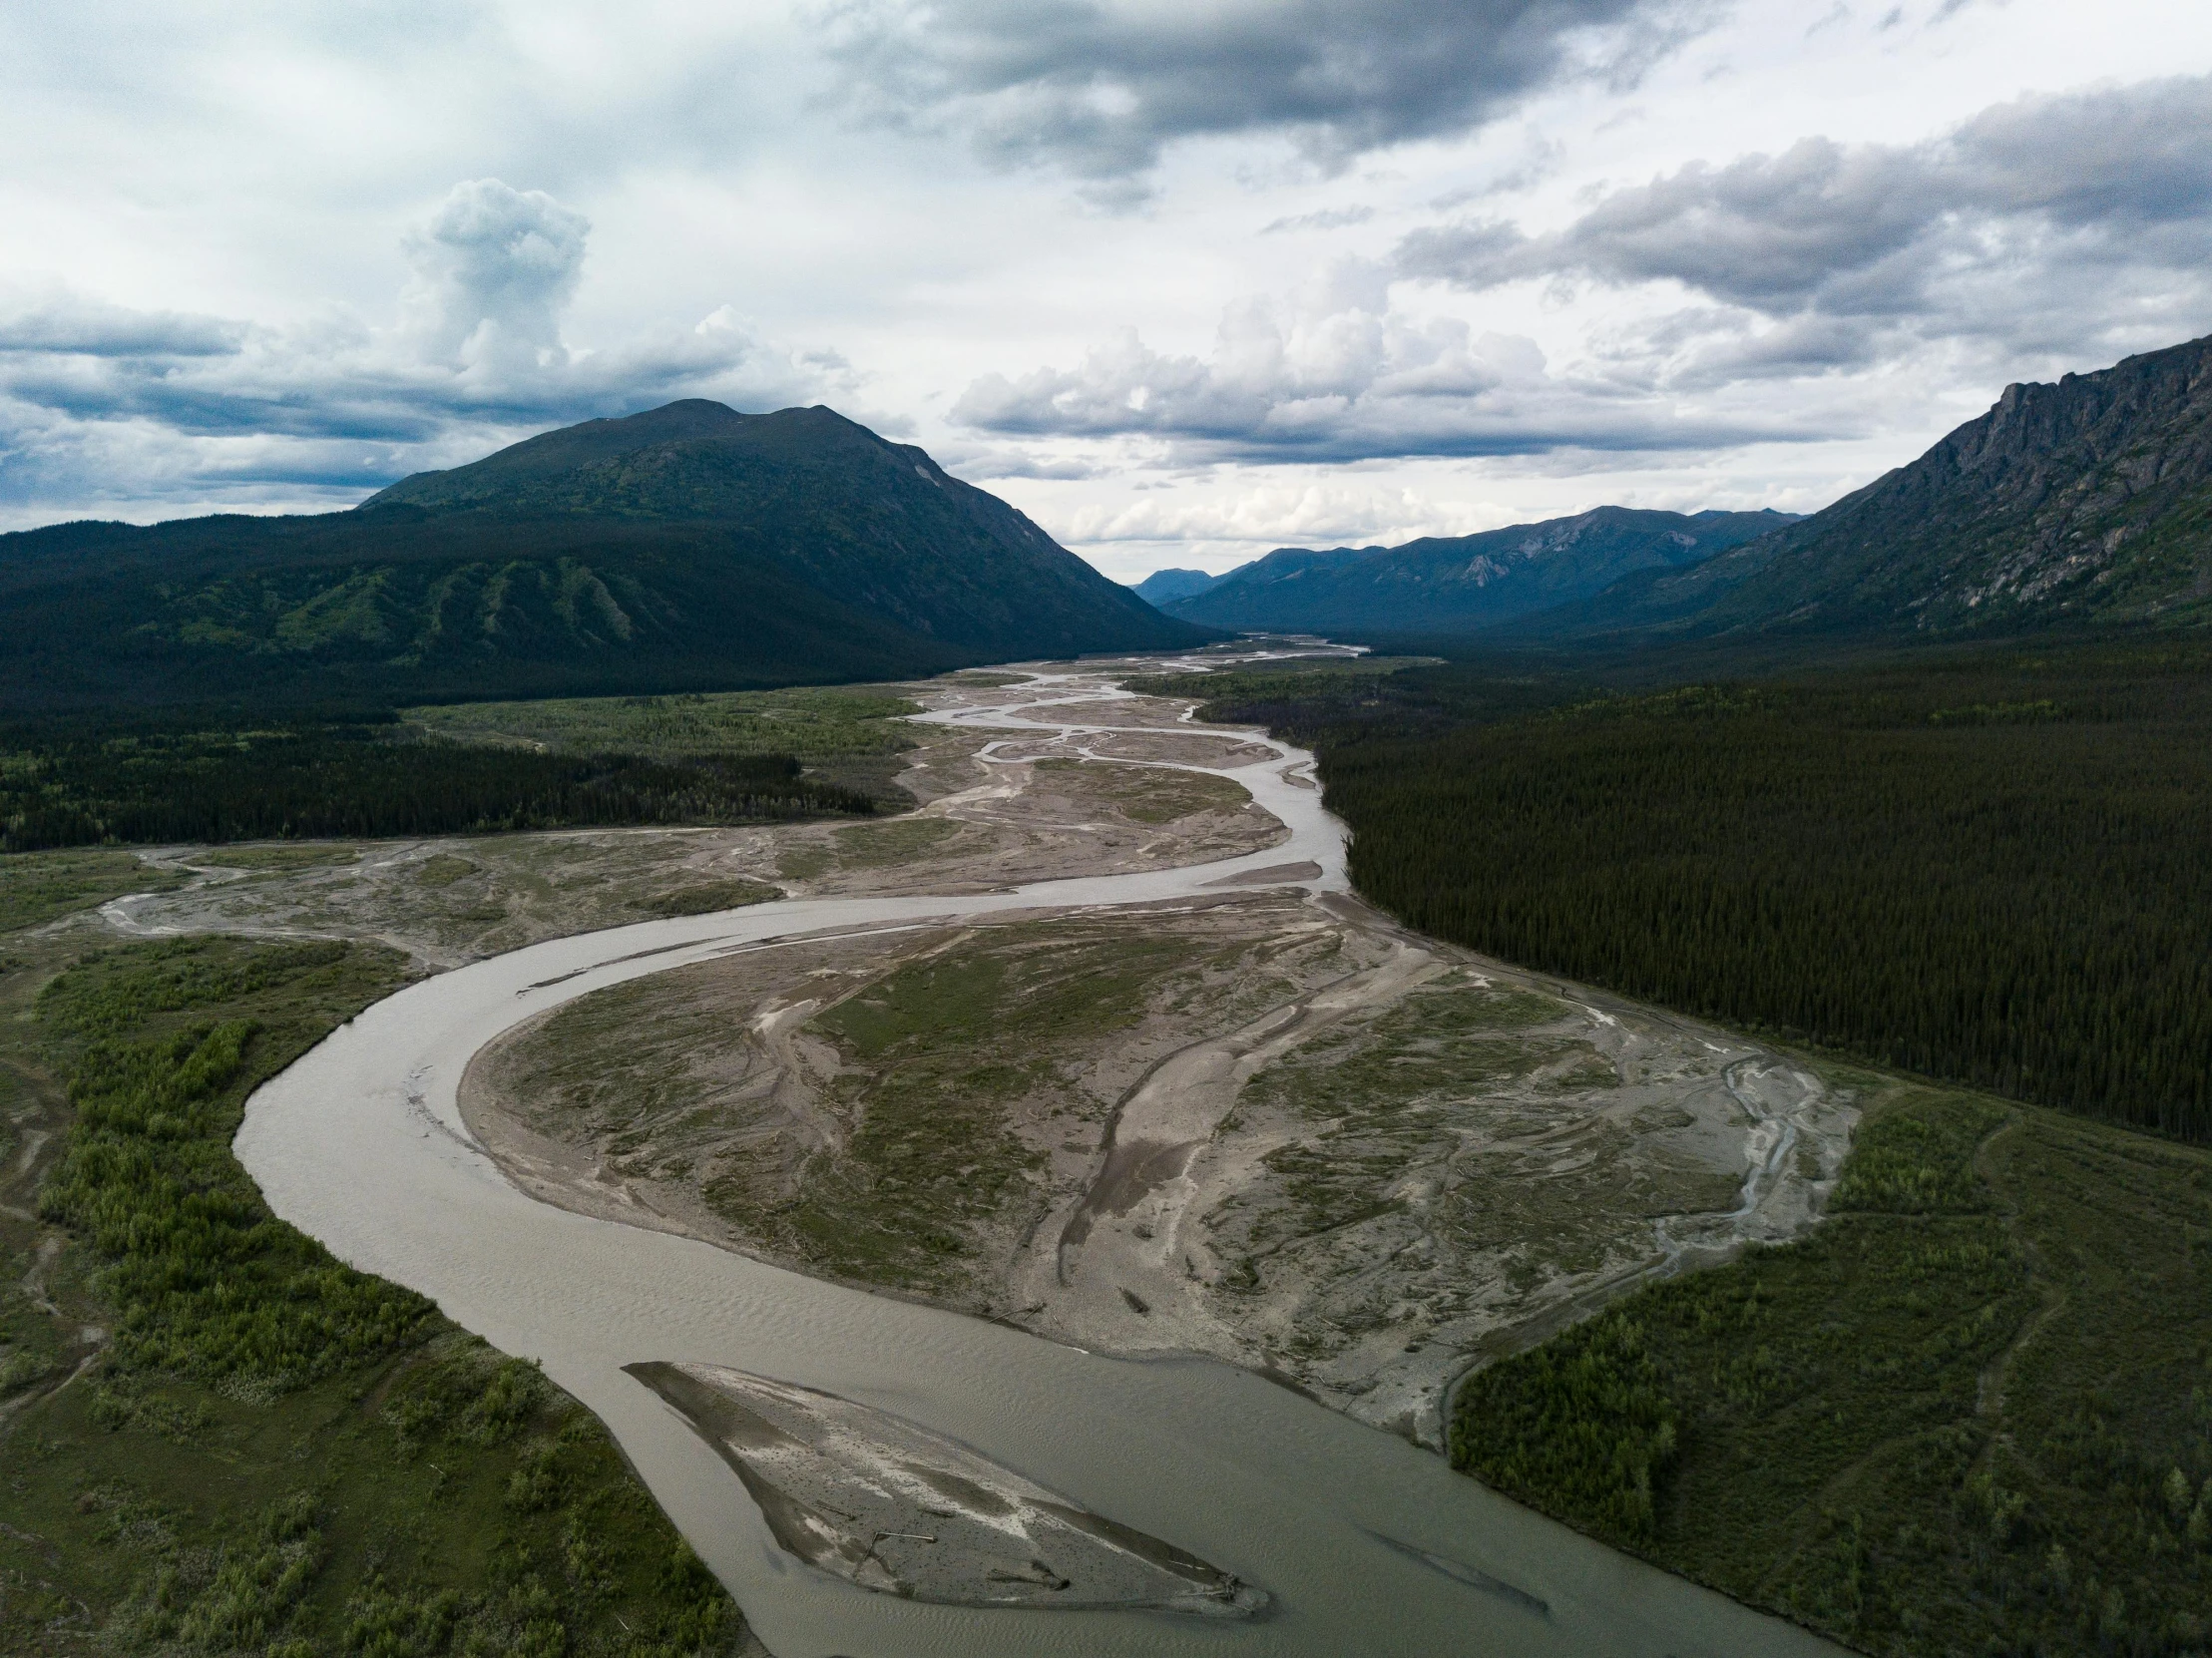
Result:
<svg viewBox="0 0 2212 1658">
<path fill-rule="evenodd" d="M 936 718 L 1066 730 L 1048 699 L 1097 694 L 1099 681 L 1064 676 L 1024 710 Z M 1099 718 L 1095 703 L 1084 714 Z M 511 1187 L 460 1123 L 460 1072 L 502 1030 L 717 953 L 938 917 L 1172 900 L 1296 864 L 1318 869 L 1296 884 L 1343 889 L 1343 829 L 1321 811 L 1310 760 L 1279 745 L 1276 760 L 1223 774 L 1292 831 L 1245 858 L 1009 893 L 761 904 L 555 940 L 427 979 L 263 1085 L 248 1101 L 239 1156 L 276 1214 L 341 1258 L 542 1360 L 615 1433 L 779 1658 L 1836 1651 L 1245 1371 L 1108 1360 L 553 1209 Z M 1270 1612 L 1252 1623 L 978 1612 L 852 1587 L 776 1550 L 728 1466 L 624 1375 L 641 1360 L 721 1364 L 894 1410 L 1234 1572 L 1272 1596 Z"/>
</svg>

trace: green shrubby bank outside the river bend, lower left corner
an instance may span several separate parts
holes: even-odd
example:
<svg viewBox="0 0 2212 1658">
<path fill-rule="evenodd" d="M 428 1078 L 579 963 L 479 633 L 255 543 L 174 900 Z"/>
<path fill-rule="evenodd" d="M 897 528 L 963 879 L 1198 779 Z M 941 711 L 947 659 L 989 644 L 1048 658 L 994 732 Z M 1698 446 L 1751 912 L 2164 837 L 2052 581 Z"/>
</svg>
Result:
<svg viewBox="0 0 2212 1658">
<path fill-rule="evenodd" d="M 173 940 L 0 979 L 0 1649 L 739 1647 L 586 1410 L 279 1222 L 230 1156 L 252 1085 L 400 970 Z"/>
</svg>

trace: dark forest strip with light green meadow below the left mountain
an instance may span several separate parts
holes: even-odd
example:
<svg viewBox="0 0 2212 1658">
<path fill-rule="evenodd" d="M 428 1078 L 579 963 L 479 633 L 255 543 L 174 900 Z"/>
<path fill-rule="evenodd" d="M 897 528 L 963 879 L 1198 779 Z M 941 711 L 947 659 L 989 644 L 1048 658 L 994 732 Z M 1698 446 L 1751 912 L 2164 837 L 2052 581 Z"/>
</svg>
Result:
<svg viewBox="0 0 2212 1658">
<path fill-rule="evenodd" d="M 907 805 L 916 712 L 872 685 L 55 716 L 0 732 L 0 851 L 867 816 Z"/>
</svg>

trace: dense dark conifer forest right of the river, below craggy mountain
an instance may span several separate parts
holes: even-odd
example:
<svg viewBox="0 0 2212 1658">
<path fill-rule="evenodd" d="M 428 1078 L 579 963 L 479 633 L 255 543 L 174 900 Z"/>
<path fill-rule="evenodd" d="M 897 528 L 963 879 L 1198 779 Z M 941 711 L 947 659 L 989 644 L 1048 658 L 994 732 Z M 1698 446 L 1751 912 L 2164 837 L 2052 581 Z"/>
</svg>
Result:
<svg viewBox="0 0 2212 1658">
<path fill-rule="evenodd" d="M 1276 676 L 1281 679 L 1281 676 Z M 1219 685 L 1407 924 L 1781 1039 L 2212 1136 L 2212 650 L 1599 690 Z M 1241 692 L 1256 692 L 1250 701 Z"/>
</svg>

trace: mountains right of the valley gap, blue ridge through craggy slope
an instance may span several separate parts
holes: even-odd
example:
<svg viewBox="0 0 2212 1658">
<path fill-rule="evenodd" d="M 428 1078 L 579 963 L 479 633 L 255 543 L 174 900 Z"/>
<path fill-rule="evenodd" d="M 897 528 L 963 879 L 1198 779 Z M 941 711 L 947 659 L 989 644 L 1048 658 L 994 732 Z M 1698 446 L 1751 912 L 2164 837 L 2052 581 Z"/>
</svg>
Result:
<svg viewBox="0 0 2212 1658">
<path fill-rule="evenodd" d="M 1139 586 L 1232 630 L 1661 646 L 2212 623 L 2212 338 L 1995 407 L 1812 517 L 1637 513 L 1279 548 Z"/>
</svg>

